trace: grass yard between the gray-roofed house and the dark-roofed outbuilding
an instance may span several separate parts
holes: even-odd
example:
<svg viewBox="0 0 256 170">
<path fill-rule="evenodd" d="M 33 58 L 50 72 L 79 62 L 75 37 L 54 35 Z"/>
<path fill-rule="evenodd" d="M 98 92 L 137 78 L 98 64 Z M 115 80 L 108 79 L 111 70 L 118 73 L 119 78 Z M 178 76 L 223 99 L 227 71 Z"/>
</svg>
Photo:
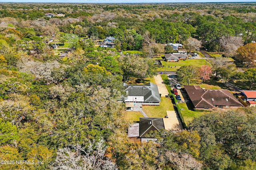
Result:
<svg viewBox="0 0 256 170">
<path fill-rule="evenodd" d="M 148 117 L 163 117 L 166 116 L 167 110 L 174 110 L 172 101 L 169 98 L 161 97 L 159 106 L 142 106 L 143 111 Z"/>
</svg>

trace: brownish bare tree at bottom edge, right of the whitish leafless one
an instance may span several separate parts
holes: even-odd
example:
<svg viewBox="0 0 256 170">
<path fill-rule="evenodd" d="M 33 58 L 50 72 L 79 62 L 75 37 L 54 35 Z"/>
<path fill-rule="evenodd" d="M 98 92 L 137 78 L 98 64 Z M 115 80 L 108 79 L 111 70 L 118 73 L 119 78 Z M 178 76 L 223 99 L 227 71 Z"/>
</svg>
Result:
<svg viewBox="0 0 256 170">
<path fill-rule="evenodd" d="M 202 164 L 193 158 L 190 154 L 183 153 L 177 154 L 175 152 L 168 151 L 165 153 L 167 159 L 172 162 L 177 170 L 201 170 Z"/>
</svg>

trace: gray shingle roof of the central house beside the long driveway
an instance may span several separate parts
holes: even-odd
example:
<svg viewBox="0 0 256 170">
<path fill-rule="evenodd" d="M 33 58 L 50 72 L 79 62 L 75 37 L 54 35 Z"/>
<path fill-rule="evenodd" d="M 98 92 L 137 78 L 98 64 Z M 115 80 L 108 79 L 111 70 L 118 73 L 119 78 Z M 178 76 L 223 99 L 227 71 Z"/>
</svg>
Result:
<svg viewBox="0 0 256 170">
<path fill-rule="evenodd" d="M 147 84 L 126 84 L 125 91 L 128 90 L 128 96 L 144 96 L 144 102 L 161 102 L 160 94 L 156 84 L 149 82 Z"/>
</svg>

